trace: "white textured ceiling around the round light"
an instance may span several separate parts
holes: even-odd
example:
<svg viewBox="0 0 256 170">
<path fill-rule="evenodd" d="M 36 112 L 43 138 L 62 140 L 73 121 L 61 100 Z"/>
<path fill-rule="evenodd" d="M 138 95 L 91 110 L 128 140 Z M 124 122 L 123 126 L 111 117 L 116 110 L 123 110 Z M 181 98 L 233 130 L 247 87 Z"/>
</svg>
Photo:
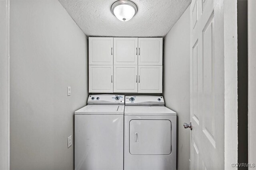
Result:
<svg viewBox="0 0 256 170">
<path fill-rule="evenodd" d="M 191 0 L 132 0 L 138 13 L 119 21 L 110 10 L 116 0 L 59 0 L 87 36 L 164 37 Z"/>
</svg>

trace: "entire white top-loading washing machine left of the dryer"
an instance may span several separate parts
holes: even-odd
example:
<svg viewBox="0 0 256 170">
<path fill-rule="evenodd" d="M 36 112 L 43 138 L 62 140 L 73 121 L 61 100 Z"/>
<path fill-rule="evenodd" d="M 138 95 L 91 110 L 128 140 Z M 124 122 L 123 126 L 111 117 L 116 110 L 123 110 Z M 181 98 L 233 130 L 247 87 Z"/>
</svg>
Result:
<svg viewBox="0 0 256 170">
<path fill-rule="evenodd" d="M 75 169 L 123 169 L 124 96 L 90 95 L 87 104 L 75 111 Z"/>
</svg>

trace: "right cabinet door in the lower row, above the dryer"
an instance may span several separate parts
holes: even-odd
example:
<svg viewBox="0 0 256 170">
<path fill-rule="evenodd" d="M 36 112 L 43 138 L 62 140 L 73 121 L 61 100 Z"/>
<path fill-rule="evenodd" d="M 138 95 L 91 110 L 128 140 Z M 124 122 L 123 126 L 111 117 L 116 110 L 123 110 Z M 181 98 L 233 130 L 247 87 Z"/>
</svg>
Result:
<svg viewBox="0 0 256 170">
<path fill-rule="evenodd" d="M 138 93 L 162 93 L 162 66 L 138 66 Z"/>
</svg>

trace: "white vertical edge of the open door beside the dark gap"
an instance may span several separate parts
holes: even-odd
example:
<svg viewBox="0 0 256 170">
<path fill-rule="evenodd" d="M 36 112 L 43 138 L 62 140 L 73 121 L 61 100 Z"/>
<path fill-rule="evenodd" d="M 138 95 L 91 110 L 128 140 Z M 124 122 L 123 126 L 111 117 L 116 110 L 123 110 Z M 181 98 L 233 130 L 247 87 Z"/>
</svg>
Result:
<svg viewBox="0 0 256 170">
<path fill-rule="evenodd" d="M 238 163 L 237 0 L 224 0 L 224 168 Z M 232 128 L 230 128 L 232 127 Z"/>
</svg>

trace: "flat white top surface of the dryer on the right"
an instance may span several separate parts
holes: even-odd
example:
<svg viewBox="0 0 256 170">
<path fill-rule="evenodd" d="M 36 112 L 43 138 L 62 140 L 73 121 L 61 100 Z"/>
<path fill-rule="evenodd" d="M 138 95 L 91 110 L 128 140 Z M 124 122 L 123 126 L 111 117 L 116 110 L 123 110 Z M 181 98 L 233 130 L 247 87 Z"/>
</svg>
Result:
<svg viewBox="0 0 256 170">
<path fill-rule="evenodd" d="M 165 106 L 125 106 L 124 115 L 177 115 Z"/>
</svg>

